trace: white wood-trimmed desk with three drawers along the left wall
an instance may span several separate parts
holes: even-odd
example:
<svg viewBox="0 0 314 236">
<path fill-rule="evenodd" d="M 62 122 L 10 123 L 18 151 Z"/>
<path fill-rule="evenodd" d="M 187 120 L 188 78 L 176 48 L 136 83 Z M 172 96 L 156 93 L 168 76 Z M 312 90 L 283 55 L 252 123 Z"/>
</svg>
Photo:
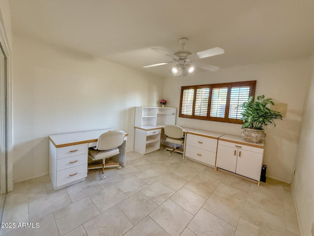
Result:
<svg viewBox="0 0 314 236">
<path fill-rule="evenodd" d="M 49 137 L 49 175 L 54 189 L 60 189 L 82 181 L 87 176 L 88 148 L 95 147 L 98 137 L 113 129 L 102 129 L 70 134 L 50 135 Z M 120 165 L 126 163 L 125 134 L 120 153 L 112 157 Z"/>
</svg>

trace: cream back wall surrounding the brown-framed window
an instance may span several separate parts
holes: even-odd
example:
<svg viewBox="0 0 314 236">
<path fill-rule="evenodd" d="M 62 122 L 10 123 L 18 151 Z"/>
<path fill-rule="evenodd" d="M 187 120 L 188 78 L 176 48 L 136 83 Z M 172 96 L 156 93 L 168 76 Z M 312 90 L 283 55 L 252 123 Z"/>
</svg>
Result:
<svg viewBox="0 0 314 236">
<path fill-rule="evenodd" d="M 165 79 L 164 98 L 169 101 L 167 106 L 179 109 L 181 86 L 256 80 L 256 97 L 264 94 L 266 98 L 273 98 L 275 103 L 288 104 L 284 121 L 277 120 L 276 128 L 271 125 L 264 127 L 266 145 L 263 164 L 267 165 L 268 177 L 290 182 L 310 74 L 309 58 L 297 58 L 220 69 L 211 73 L 200 72 L 185 77 L 168 77 Z M 177 124 L 241 136 L 240 124 L 190 118 L 177 118 Z"/>
</svg>

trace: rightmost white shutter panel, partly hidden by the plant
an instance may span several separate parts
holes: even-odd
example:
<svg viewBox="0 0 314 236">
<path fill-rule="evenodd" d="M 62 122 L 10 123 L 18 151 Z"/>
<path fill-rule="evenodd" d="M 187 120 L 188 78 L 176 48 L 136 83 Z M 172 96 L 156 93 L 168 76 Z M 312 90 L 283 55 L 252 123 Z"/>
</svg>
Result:
<svg viewBox="0 0 314 236">
<path fill-rule="evenodd" d="M 250 95 L 250 86 L 245 87 L 233 87 L 231 88 L 229 116 L 228 118 L 240 119 L 242 118 L 242 107 L 238 105 L 247 102 Z"/>
</svg>

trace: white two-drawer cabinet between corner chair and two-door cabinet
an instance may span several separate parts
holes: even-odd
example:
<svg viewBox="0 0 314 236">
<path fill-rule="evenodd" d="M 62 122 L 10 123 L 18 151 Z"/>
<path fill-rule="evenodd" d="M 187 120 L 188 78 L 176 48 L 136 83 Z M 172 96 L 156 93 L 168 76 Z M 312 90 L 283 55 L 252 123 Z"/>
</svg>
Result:
<svg viewBox="0 0 314 236">
<path fill-rule="evenodd" d="M 185 156 L 188 159 L 214 167 L 218 137 L 222 135 L 204 130 L 188 131 L 185 136 Z"/>
</svg>

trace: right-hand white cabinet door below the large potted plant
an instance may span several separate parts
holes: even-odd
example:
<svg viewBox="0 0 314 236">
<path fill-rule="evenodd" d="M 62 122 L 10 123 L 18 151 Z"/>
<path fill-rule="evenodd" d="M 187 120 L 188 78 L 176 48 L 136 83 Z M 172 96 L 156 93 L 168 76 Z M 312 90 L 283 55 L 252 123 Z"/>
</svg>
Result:
<svg viewBox="0 0 314 236">
<path fill-rule="evenodd" d="M 239 149 L 235 173 L 260 181 L 262 157 L 261 153 Z"/>
</svg>

